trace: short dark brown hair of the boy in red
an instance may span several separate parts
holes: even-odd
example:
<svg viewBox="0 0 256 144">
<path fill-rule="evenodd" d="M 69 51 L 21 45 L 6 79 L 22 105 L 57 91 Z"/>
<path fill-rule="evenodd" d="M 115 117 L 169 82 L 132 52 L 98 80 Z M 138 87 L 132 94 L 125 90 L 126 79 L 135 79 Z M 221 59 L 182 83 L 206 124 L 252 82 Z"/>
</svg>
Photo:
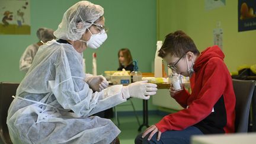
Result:
<svg viewBox="0 0 256 144">
<path fill-rule="evenodd" d="M 194 41 L 183 31 L 178 30 L 165 36 L 164 44 L 158 51 L 158 56 L 164 58 L 168 53 L 171 53 L 171 55 L 181 57 L 187 52 L 193 52 L 194 55 L 199 55 L 200 53 Z"/>
</svg>

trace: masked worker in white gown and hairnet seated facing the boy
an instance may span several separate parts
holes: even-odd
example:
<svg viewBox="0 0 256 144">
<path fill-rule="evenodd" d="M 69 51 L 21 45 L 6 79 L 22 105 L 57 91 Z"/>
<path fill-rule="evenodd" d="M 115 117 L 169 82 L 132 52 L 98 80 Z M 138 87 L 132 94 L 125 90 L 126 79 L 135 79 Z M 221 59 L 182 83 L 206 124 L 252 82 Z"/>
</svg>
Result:
<svg viewBox="0 0 256 144">
<path fill-rule="evenodd" d="M 60 40 L 40 47 L 8 110 L 13 143 L 113 143 L 120 130 L 91 115 L 130 97 L 156 94 L 156 85 L 145 81 L 105 88 L 99 76 L 86 78 L 82 52 L 107 39 L 103 13 L 100 5 L 76 3 L 54 32 Z"/>
</svg>

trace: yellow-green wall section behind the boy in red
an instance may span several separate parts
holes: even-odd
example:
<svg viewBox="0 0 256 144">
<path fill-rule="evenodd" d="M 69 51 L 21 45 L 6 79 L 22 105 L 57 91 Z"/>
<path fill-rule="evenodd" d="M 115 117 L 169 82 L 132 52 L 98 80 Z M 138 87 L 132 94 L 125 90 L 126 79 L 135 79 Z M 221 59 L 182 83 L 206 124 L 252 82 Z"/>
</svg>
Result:
<svg viewBox="0 0 256 144">
<path fill-rule="evenodd" d="M 238 1 L 226 0 L 226 6 L 206 11 L 204 0 L 158 0 L 157 38 L 183 30 L 201 51 L 213 45 L 213 28 L 223 28 L 223 52 L 229 71 L 241 65 L 256 64 L 256 30 L 238 33 Z"/>
</svg>

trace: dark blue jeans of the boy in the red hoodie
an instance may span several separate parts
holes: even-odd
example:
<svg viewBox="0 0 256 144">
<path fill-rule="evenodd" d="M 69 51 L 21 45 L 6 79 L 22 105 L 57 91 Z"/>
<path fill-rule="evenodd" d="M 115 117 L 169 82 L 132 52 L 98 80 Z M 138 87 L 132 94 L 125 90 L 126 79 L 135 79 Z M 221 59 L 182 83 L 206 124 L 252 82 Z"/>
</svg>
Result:
<svg viewBox="0 0 256 144">
<path fill-rule="evenodd" d="M 191 126 L 184 130 L 169 130 L 161 134 L 161 138 L 157 141 L 158 133 L 155 133 L 151 140 L 148 141 L 148 137 L 151 133 L 147 136 L 142 138 L 142 133 L 137 135 L 135 139 L 135 144 L 146 144 L 146 143 L 168 143 L 168 144 L 183 144 L 183 143 L 190 143 L 190 137 L 193 135 L 203 135 L 203 133 L 197 129 L 197 127 Z"/>
</svg>

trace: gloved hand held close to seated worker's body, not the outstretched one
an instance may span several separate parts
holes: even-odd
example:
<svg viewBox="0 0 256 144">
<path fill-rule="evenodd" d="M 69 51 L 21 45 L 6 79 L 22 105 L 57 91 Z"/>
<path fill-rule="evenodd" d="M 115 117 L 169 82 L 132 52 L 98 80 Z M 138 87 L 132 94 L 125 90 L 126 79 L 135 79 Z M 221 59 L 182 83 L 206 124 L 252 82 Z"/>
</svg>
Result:
<svg viewBox="0 0 256 144">
<path fill-rule="evenodd" d="M 108 87 L 108 82 L 102 75 L 87 76 L 85 82 L 87 82 L 89 87 L 94 91 L 102 91 Z"/>
</svg>

